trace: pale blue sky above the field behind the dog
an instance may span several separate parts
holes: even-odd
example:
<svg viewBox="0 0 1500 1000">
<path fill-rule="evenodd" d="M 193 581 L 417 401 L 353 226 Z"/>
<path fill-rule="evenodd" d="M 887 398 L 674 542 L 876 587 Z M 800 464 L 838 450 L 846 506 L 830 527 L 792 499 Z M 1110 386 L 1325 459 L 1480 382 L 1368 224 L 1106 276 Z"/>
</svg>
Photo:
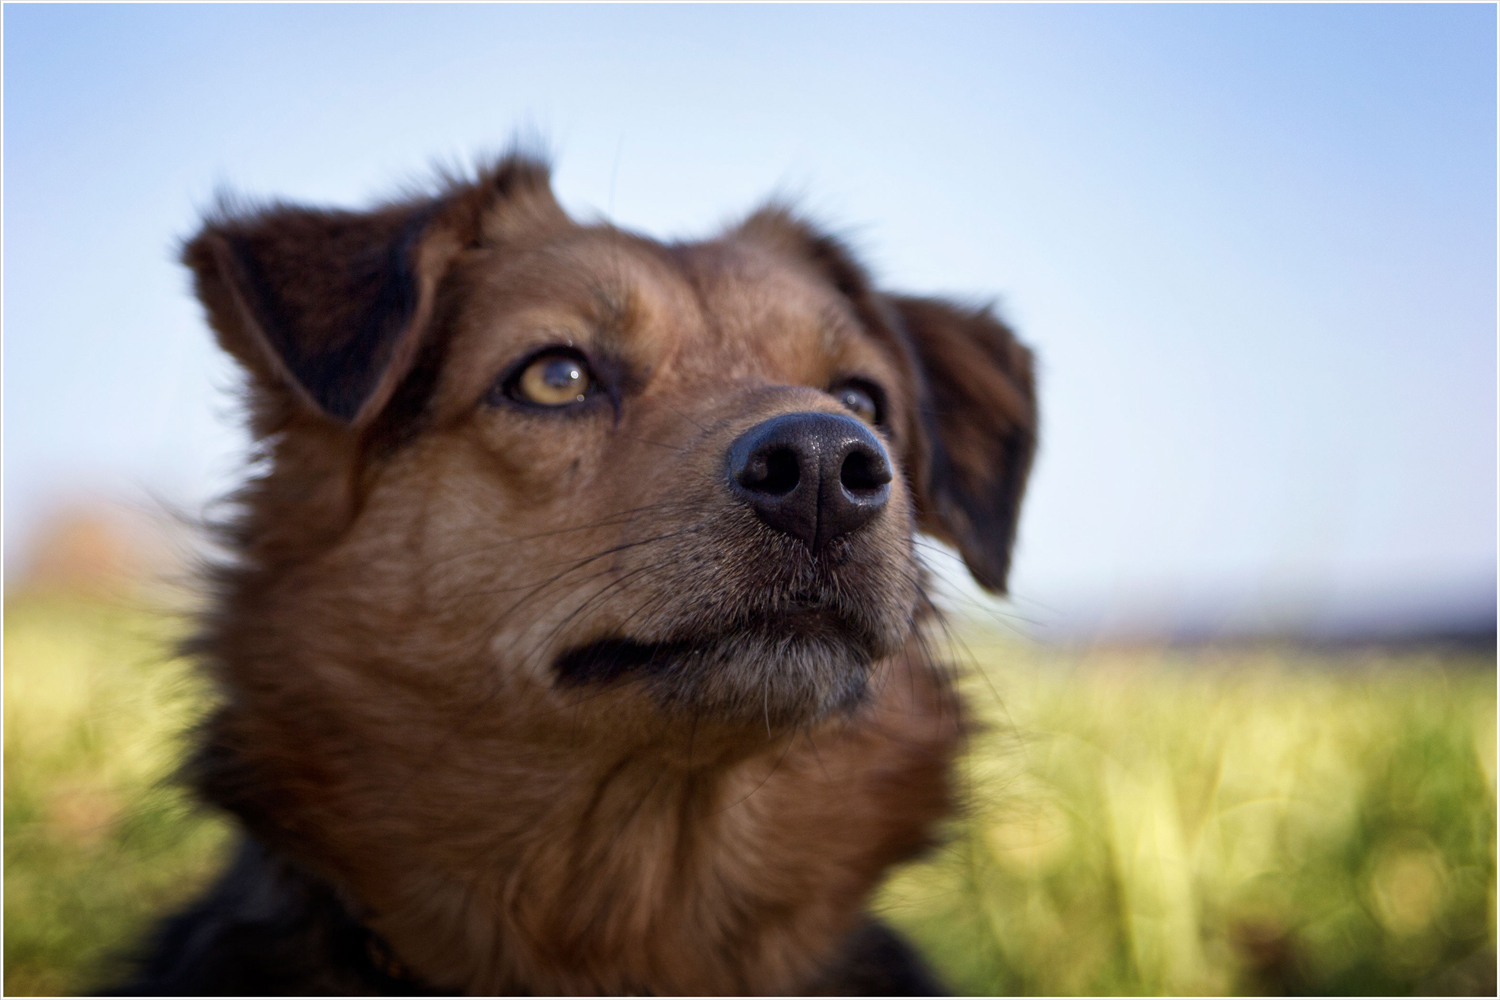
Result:
<svg viewBox="0 0 1500 1000">
<path fill-rule="evenodd" d="M 232 484 L 172 262 L 218 187 L 358 204 L 530 130 L 582 217 L 794 193 L 996 300 L 1041 363 L 1023 609 L 1492 586 L 1492 6 L 3 18 L 8 565 L 60 499 Z"/>
</svg>

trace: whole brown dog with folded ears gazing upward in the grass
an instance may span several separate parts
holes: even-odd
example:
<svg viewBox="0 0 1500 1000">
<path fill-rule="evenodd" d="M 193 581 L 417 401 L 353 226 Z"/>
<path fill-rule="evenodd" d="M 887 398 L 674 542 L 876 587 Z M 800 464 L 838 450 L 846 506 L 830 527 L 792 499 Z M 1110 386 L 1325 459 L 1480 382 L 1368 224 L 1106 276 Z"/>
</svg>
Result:
<svg viewBox="0 0 1500 1000">
<path fill-rule="evenodd" d="M 954 807 L 915 544 L 1004 591 L 1010 328 L 784 205 L 580 225 L 524 153 L 183 261 L 260 448 L 184 769 L 240 846 L 118 993 L 942 993 L 867 904 Z"/>
</svg>

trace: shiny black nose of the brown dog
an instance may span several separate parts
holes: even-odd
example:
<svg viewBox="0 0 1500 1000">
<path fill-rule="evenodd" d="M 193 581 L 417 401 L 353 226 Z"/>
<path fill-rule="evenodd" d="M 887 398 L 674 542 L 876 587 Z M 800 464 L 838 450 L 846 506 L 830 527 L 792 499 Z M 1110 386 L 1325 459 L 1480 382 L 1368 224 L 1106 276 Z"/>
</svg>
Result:
<svg viewBox="0 0 1500 1000">
<path fill-rule="evenodd" d="M 729 445 L 729 489 L 816 555 L 885 508 L 891 459 L 854 417 L 786 414 Z"/>
</svg>

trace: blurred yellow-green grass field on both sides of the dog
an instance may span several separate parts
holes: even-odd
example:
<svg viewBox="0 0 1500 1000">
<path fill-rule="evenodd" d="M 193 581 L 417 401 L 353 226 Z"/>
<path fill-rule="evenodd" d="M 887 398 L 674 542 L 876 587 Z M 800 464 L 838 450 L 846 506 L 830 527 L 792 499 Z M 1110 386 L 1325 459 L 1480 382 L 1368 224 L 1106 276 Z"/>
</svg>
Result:
<svg viewBox="0 0 1500 1000">
<path fill-rule="evenodd" d="M 4 618 L 4 991 L 94 988 L 224 826 L 165 783 L 182 622 Z M 962 636 L 986 729 L 879 907 L 968 994 L 1494 994 L 1496 661 Z"/>
</svg>

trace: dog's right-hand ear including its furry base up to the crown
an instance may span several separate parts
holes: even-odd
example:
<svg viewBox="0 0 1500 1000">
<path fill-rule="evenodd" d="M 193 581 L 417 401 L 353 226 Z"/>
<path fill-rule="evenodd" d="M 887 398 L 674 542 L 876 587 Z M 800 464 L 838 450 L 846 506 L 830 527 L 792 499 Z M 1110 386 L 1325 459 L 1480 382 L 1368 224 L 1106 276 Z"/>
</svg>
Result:
<svg viewBox="0 0 1500 1000">
<path fill-rule="evenodd" d="M 906 369 L 916 412 L 898 436 L 918 526 L 958 549 L 981 586 L 1004 594 L 1036 450 L 1030 351 L 988 309 L 882 294 L 842 241 L 784 205 L 756 211 L 736 235 L 830 282 Z"/>
</svg>

